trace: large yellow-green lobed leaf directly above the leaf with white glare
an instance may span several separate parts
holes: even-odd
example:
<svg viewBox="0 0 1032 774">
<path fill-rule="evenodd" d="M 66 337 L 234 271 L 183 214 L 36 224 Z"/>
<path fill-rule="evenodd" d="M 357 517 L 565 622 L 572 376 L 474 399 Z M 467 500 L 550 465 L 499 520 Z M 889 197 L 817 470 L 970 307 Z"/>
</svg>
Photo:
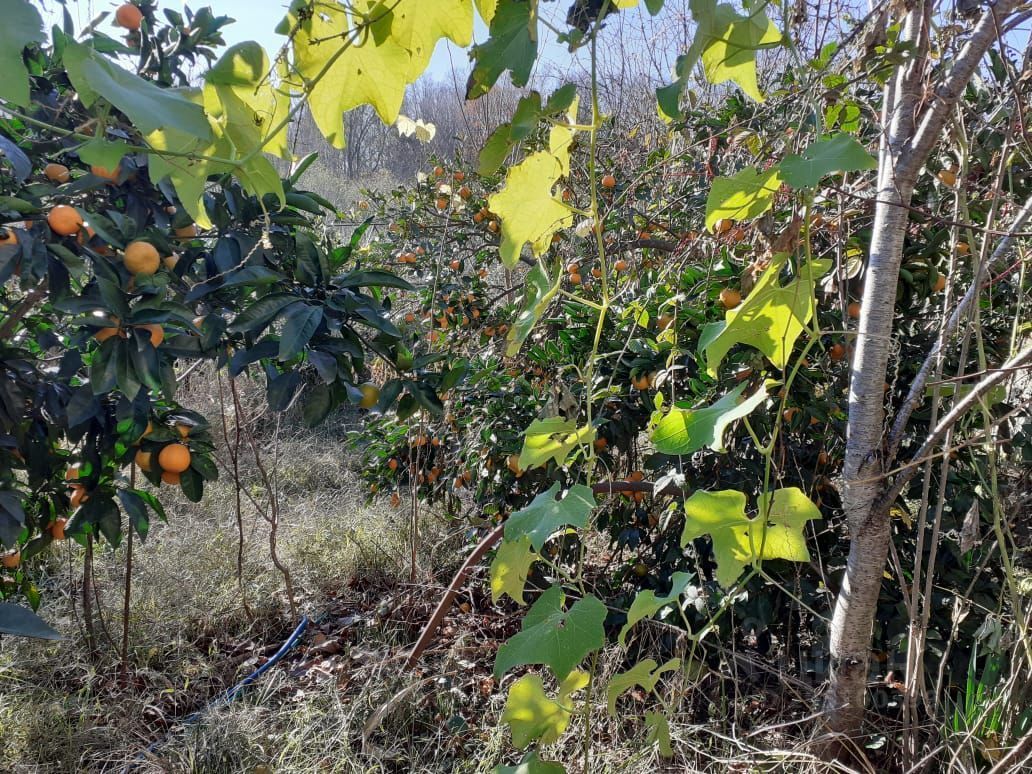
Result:
<svg viewBox="0 0 1032 774">
<path fill-rule="evenodd" d="M 724 322 L 703 328 L 699 350 L 706 356 L 710 376 L 716 377 L 724 356 L 736 344 L 756 348 L 782 370 L 787 365 L 796 340 L 813 317 L 816 280 L 832 266 L 831 260 L 811 261 L 800 267 L 796 279 L 781 286 L 778 276 L 787 259 L 787 254 L 775 255 L 741 305 L 729 310 Z"/>
</svg>

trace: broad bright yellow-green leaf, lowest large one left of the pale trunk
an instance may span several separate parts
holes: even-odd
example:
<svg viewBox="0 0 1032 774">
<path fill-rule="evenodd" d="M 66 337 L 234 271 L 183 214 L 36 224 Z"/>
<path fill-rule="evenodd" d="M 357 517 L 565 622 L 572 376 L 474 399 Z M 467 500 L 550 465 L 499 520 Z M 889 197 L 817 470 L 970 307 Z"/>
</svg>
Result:
<svg viewBox="0 0 1032 774">
<path fill-rule="evenodd" d="M 745 494 L 735 490 L 697 491 L 684 501 L 685 522 L 681 546 L 708 535 L 717 563 L 716 579 L 731 586 L 746 566 L 761 559 L 808 561 L 803 529 L 819 519 L 819 509 L 796 487 L 778 489 L 773 499 L 760 498 L 761 516 L 745 514 Z"/>
</svg>

